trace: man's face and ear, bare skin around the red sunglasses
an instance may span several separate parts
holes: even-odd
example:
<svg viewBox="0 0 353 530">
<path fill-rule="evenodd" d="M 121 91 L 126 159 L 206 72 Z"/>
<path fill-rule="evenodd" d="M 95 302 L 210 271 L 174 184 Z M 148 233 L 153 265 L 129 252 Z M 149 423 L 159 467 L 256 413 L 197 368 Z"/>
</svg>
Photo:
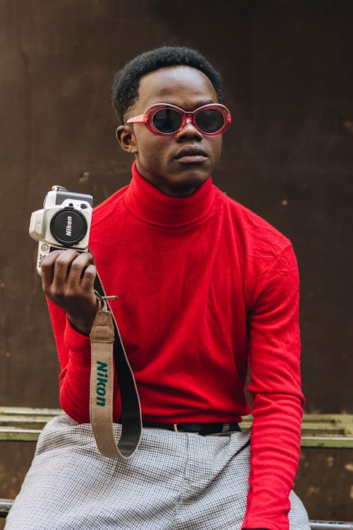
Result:
<svg viewBox="0 0 353 530">
<path fill-rule="evenodd" d="M 190 66 L 168 66 L 141 78 L 138 98 L 125 118 L 143 114 L 155 103 L 170 103 L 191 112 L 217 102 L 212 83 L 201 71 Z M 119 126 L 117 137 L 121 147 L 135 155 L 140 175 L 176 197 L 192 194 L 208 179 L 222 149 L 222 135 L 203 136 L 192 123 L 169 136 L 153 134 L 143 123 L 128 124 Z"/>
</svg>

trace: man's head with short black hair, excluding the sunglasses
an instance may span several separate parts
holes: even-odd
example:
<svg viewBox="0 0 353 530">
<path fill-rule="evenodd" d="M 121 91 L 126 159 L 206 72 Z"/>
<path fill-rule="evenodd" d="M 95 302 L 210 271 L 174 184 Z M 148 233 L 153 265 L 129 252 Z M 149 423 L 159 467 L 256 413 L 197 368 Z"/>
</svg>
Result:
<svg viewBox="0 0 353 530">
<path fill-rule="evenodd" d="M 220 75 L 188 48 L 145 52 L 116 74 L 112 100 L 122 123 L 116 137 L 124 151 L 135 155 L 140 174 L 162 192 L 187 196 L 200 187 L 220 158 L 222 135 L 203 134 L 197 119 L 185 120 L 175 133 L 160 135 L 138 118 L 157 103 L 193 112 L 218 104 L 220 96 Z"/>
</svg>

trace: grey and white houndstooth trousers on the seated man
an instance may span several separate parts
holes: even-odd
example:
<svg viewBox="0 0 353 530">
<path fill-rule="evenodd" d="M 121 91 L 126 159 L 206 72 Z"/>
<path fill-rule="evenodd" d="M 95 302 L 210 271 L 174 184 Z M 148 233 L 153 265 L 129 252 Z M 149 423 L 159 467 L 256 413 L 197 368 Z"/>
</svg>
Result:
<svg viewBox="0 0 353 530">
<path fill-rule="evenodd" d="M 144 428 L 137 452 L 120 461 L 102 457 L 90 424 L 58 416 L 40 435 L 6 530 L 239 530 L 249 438 Z M 289 499 L 290 530 L 310 530 L 297 495 Z"/>
</svg>

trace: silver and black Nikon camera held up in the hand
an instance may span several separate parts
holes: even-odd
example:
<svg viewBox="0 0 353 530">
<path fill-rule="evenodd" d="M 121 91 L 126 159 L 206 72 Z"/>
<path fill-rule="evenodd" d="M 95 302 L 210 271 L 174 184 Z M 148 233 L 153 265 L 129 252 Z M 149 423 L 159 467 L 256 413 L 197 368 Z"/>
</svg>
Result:
<svg viewBox="0 0 353 530">
<path fill-rule="evenodd" d="M 93 196 L 68 192 L 53 186 L 47 193 L 42 210 L 30 217 L 30 237 L 39 242 L 37 272 L 42 260 L 55 249 L 72 248 L 78 252 L 88 249 Z"/>
</svg>

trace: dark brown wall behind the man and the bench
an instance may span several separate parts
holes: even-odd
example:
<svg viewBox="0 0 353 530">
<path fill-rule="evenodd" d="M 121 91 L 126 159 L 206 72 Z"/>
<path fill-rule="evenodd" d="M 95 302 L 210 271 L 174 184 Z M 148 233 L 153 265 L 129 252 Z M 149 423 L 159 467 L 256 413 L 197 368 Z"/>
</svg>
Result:
<svg viewBox="0 0 353 530">
<path fill-rule="evenodd" d="M 164 44 L 195 47 L 224 78 L 233 123 L 215 184 L 294 245 L 306 411 L 353 413 L 353 2 L 342 0 L 0 0 L 0 406 L 58 406 L 30 212 L 53 184 L 98 204 L 128 183 L 112 78 Z M 0 496 L 13 497 L 33 446 L 0 451 Z M 352 471 L 352 451 L 304 450 L 297 492 L 311 518 L 352 519 Z"/>
</svg>

